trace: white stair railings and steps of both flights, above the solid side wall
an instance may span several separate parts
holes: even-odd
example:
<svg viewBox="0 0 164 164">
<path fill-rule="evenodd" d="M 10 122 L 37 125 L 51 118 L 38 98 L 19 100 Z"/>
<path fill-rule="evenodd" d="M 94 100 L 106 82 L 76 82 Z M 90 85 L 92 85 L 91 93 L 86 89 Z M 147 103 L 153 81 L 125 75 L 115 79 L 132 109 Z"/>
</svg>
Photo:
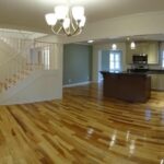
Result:
<svg viewBox="0 0 164 164">
<path fill-rule="evenodd" d="M 0 62 L 0 92 L 4 92 L 35 70 L 57 68 L 57 45 L 34 39 L 0 35 L 0 51 L 7 58 Z"/>
</svg>

